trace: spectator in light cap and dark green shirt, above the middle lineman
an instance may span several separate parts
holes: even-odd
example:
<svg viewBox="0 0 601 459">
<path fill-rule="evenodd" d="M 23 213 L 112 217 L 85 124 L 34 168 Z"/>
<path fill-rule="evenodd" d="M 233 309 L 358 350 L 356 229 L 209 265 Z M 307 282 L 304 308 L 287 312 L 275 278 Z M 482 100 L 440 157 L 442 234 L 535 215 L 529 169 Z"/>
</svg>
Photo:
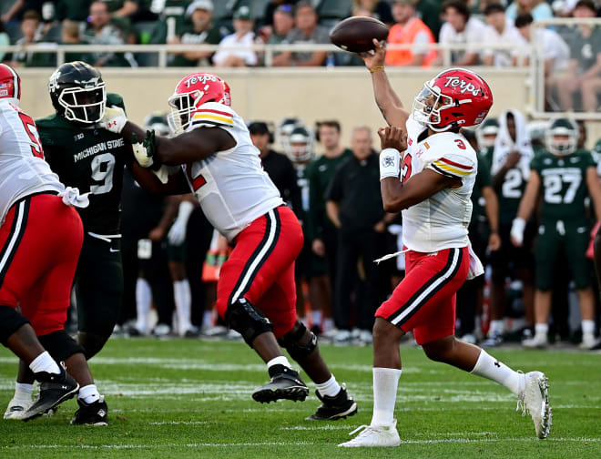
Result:
<svg viewBox="0 0 601 459">
<path fill-rule="evenodd" d="M 221 35 L 217 27 L 212 26 L 213 2 L 194 0 L 186 8 L 186 17 L 192 23 L 184 26 L 180 33 L 168 39 L 169 45 L 219 45 Z M 212 51 L 180 51 L 173 53 L 168 66 L 210 66 Z"/>
</svg>

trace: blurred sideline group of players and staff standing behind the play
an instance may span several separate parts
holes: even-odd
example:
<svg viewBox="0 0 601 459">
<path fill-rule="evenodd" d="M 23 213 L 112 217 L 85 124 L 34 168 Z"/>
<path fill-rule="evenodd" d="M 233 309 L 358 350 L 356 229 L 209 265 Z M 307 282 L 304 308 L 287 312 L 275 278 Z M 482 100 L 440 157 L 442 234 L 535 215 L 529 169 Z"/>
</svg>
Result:
<svg viewBox="0 0 601 459">
<path fill-rule="evenodd" d="M 550 339 L 580 342 L 586 349 L 598 346 L 599 295 L 588 246 L 601 199 L 592 185 L 587 181 L 588 188 L 555 211 L 559 215 L 554 214 L 553 229 L 547 230 L 547 235 L 559 231 L 552 248 L 541 249 L 546 211 L 540 203 L 525 218 L 521 246 L 509 237 L 535 160 L 548 162 L 556 154 L 559 165 L 569 161 L 574 166 L 572 158 L 584 158 L 585 168 L 600 165 L 594 175 L 601 175 L 601 139 L 593 151 L 586 150 L 585 124 L 564 121 L 567 130 L 556 131 L 548 122 L 526 122 L 519 111 L 507 110 L 475 131 L 463 131 L 479 152 L 469 231 L 487 266 L 486 275 L 466 282 L 457 296 L 457 336 L 467 342 L 545 347 Z M 145 124 L 168 133 L 164 115 L 151 115 Z M 321 340 L 370 344 L 373 313 L 404 275 L 402 255 L 374 262 L 402 250 L 402 216 L 382 209 L 374 133 L 353 127 L 346 147 L 334 119 L 314 127 L 296 117 L 277 125 L 255 120 L 248 126 L 265 171 L 301 220 L 305 242 L 296 263 L 299 317 Z M 562 145 L 569 145 L 569 151 Z M 567 172 L 573 175 L 574 169 Z M 540 173 L 546 187 L 547 174 Z M 545 190 L 545 199 L 553 192 L 559 191 Z M 150 195 L 126 171 L 122 233 L 126 294 L 117 332 L 239 339 L 214 311 L 219 267 L 229 246 L 192 195 Z M 549 260 L 555 249 L 556 258 Z M 549 276 L 545 287 L 540 279 Z M 550 292 L 548 311 L 537 297 L 541 288 Z"/>
</svg>

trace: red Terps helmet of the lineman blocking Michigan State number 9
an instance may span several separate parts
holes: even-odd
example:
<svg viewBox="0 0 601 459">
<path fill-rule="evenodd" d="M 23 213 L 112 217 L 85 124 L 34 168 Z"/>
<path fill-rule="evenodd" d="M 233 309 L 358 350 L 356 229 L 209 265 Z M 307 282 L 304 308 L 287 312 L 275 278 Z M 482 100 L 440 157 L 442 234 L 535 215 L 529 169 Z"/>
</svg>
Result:
<svg viewBox="0 0 601 459">
<path fill-rule="evenodd" d="M 171 131 L 178 133 L 188 128 L 194 113 L 207 102 L 231 105 L 229 86 L 222 78 L 209 73 L 193 73 L 179 81 L 173 96 L 168 98 Z"/>
</svg>

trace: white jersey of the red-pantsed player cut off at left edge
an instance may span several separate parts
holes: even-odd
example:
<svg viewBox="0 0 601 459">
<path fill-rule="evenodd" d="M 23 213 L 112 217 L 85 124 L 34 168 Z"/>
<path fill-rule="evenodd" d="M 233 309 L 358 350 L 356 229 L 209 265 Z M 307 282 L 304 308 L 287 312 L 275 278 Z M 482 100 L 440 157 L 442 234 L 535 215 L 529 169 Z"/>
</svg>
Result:
<svg viewBox="0 0 601 459">
<path fill-rule="evenodd" d="M 65 190 L 44 160 L 34 120 L 17 104 L 16 99 L 0 99 L 0 224 L 17 200 Z"/>
</svg>

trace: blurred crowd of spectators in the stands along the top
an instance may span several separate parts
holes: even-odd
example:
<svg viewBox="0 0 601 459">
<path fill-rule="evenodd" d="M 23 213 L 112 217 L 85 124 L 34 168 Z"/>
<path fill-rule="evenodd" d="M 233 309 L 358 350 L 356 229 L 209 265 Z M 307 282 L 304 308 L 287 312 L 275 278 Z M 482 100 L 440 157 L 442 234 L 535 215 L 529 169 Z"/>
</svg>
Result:
<svg viewBox="0 0 601 459">
<path fill-rule="evenodd" d="M 219 45 L 217 52 L 169 53 L 168 66 L 262 66 L 253 44 L 329 44 L 329 30 L 351 15 L 391 26 L 389 66 L 524 66 L 540 44 L 546 109 L 596 111 L 601 92 L 601 26 L 535 27 L 553 17 L 595 18 L 595 0 L 11 0 L 3 5 L 0 53 L 12 66 L 56 66 L 54 53 L 30 44 Z M 436 52 L 429 45 L 462 46 Z M 234 49 L 234 46 L 236 47 Z M 240 48 L 241 46 L 241 48 Z M 497 47 L 495 47 L 497 46 Z M 500 46 L 500 47 L 498 47 Z M 539 45 L 537 45 L 539 46 Z M 67 53 L 95 66 L 157 66 L 153 53 Z M 354 66 L 347 53 L 281 52 L 272 66 Z"/>
</svg>

